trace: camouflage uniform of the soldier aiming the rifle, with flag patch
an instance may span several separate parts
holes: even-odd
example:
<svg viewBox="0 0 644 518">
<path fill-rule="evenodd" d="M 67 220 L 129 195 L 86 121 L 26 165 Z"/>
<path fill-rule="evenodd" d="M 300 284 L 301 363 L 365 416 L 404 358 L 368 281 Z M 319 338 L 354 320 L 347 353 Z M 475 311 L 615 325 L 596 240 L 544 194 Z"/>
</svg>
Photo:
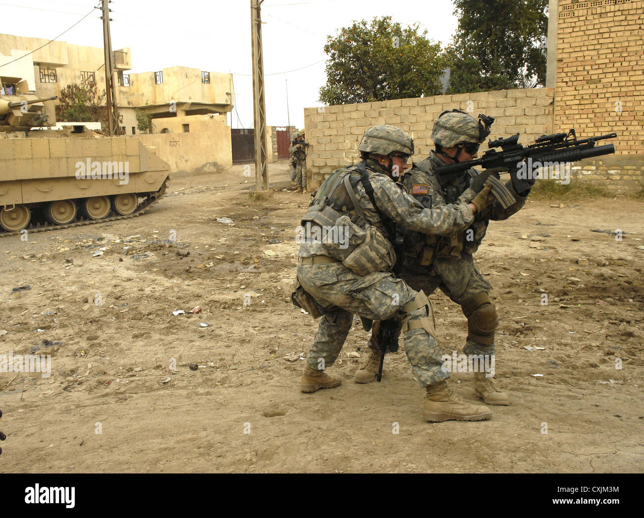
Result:
<svg viewBox="0 0 644 518">
<path fill-rule="evenodd" d="M 441 185 L 439 176 L 433 172 L 440 165 L 444 165 L 444 162 L 432 151 L 429 158 L 420 164 L 414 164 L 404 175 L 404 186 L 409 192 L 413 192 L 413 196 L 423 207 L 442 207 L 462 194 L 467 196 L 469 184 L 478 174 L 475 169 L 469 169 L 464 176 Z M 511 181 L 507 182 L 506 187 L 515 195 L 516 203 L 504 209 L 495 199 L 491 205 L 476 214 L 469 228 L 442 236 L 407 232 L 403 252 L 399 253 L 395 266 L 396 275 L 414 290 L 422 290 L 428 296 L 436 288 L 440 288 L 469 317 L 477 309 L 479 302 L 489 301 L 491 286 L 478 272 L 472 257 L 486 234 L 489 220 L 507 219 L 526 203 L 527 196 L 519 196 Z M 496 319 L 496 315 L 492 318 Z M 463 352 L 466 355 L 494 354 L 494 329 L 470 329 Z M 440 351 L 435 351 L 434 354 L 440 356 Z M 440 369 L 435 373 L 437 380 L 443 376 Z"/>
</svg>

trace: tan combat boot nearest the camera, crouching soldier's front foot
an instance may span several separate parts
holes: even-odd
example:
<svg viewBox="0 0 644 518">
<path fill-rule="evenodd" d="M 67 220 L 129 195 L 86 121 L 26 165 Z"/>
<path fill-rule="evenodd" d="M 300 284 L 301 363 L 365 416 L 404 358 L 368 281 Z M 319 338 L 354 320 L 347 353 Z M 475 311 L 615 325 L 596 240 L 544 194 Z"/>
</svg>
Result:
<svg viewBox="0 0 644 518">
<path fill-rule="evenodd" d="M 492 417 L 483 405 L 471 405 L 451 391 L 447 382 L 427 385 L 422 416 L 426 421 L 482 421 Z"/>
</svg>

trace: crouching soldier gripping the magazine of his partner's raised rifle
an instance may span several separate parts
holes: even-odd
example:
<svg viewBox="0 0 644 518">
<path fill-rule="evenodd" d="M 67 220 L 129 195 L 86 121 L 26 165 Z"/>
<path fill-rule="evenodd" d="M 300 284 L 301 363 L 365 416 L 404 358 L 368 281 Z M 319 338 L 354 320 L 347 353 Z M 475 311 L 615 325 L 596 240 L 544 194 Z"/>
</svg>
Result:
<svg viewBox="0 0 644 518">
<path fill-rule="evenodd" d="M 413 140 L 397 127 L 370 128 L 358 150 L 362 162 L 331 174 L 302 219 L 299 284 L 293 301 L 314 318 L 322 317 L 300 380 L 302 392 L 341 383 L 340 376 L 325 369 L 336 361 L 354 314 L 363 323 L 388 320 L 397 325 L 414 376 L 422 387 L 432 383 L 442 365 L 440 357 L 431 355 L 438 349 L 433 311 L 422 291 L 393 276 L 395 225 L 427 234 L 459 232 L 491 201 L 490 188 L 484 186 L 488 176 L 483 173 L 454 203 L 423 208 L 394 183 L 414 151 Z M 453 394 L 446 382 L 428 387 L 424 401 L 428 421 L 478 421 L 490 416 L 488 407 L 471 405 Z"/>
</svg>

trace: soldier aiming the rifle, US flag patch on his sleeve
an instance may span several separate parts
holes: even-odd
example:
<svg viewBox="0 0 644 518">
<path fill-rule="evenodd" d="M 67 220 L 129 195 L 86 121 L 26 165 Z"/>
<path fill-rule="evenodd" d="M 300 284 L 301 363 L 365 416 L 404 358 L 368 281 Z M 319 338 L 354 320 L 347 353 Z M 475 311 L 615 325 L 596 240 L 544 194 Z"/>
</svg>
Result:
<svg viewBox="0 0 644 518">
<path fill-rule="evenodd" d="M 462 174 L 446 178 L 434 172 L 437 167 L 457 162 L 468 162 L 477 158 L 478 147 L 489 134 L 489 120 L 477 120 L 460 110 L 444 111 L 435 121 L 431 140 L 435 150 L 421 163 L 414 163 L 403 177 L 406 189 L 422 203 L 423 207 L 435 210 L 451 207 L 482 174 L 468 169 Z M 495 176 L 497 173 L 492 172 Z M 494 335 L 498 319 L 494 304 L 489 298 L 490 284 L 478 272 L 474 254 L 486 234 L 490 219 L 507 219 L 526 203 L 527 191 L 517 192 L 512 181 L 507 189 L 515 195 L 516 203 L 504 209 L 491 198 L 488 207 L 478 212 L 471 225 L 457 232 L 436 232 L 427 236 L 417 232 L 405 232 L 403 252 L 399 254 L 395 274 L 404 279 L 414 290 L 422 290 L 429 296 L 436 288 L 445 293 L 461 307 L 468 320 L 468 337 L 463 352 L 466 355 L 481 355 L 493 358 L 495 354 Z M 369 347 L 370 357 L 355 374 L 357 383 L 372 382 L 379 369 L 379 358 L 383 347 L 372 336 Z M 439 358 L 439 349 L 431 356 Z M 491 360 L 489 360 L 491 364 Z M 479 365 L 480 366 L 480 365 Z M 440 384 L 446 378 L 436 368 L 430 384 Z M 509 398 L 498 389 L 493 376 L 474 373 L 475 392 L 488 405 L 507 405 Z"/>
</svg>

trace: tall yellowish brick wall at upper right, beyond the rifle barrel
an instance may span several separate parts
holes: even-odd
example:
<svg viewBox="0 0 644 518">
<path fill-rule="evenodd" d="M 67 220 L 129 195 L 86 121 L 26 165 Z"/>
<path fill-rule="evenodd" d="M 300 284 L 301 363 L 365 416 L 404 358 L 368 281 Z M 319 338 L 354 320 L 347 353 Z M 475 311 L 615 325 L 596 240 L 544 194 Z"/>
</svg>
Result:
<svg viewBox="0 0 644 518">
<path fill-rule="evenodd" d="M 560 0 L 554 126 L 615 132 L 616 154 L 644 153 L 643 48 L 644 1 Z"/>
</svg>

